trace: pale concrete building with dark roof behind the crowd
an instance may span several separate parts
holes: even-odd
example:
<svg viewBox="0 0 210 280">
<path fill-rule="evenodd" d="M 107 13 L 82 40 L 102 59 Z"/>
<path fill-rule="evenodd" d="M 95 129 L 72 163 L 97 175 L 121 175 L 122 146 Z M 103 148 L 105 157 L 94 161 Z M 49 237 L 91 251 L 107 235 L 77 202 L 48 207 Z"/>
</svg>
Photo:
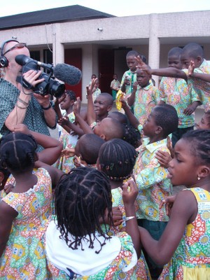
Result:
<svg viewBox="0 0 210 280">
<path fill-rule="evenodd" d="M 85 8 L 76 7 L 80 10 Z M 71 10 L 71 6 L 67 8 Z M 19 25 L 18 20 L 15 22 L 15 15 L 0 18 L 1 42 L 17 38 L 27 42 L 31 53 L 38 53 L 37 57 L 42 62 L 50 62 L 51 55 L 54 65 L 65 62 L 78 66 L 83 77 L 80 84 L 71 89 L 75 89 L 84 103 L 85 87 L 90 83 L 92 73 L 99 77 L 102 91 L 111 92 L 109 86 L 113 73 L 118 73 L 120 79 L 127 70 L 125 56 L 129 50 L 145 55 L 152 68 L 167 66 L 169 49 L 190 42 L 200 43 L 205 58 L 210 59 L 210 10 L 120 18 L 99 12 L 97 16 L 80 15 L 74 19 L 69 16 L 69 20 L 67 16 L 63 20 L 59 9 L 44 11 L 46 15 L 59 11 L 57 20 L 37 22 L 36 18 L 33 21 L 33 15 L 44 18 L 44 14 L 40 15 L 42 11 L 19 15 L 23 19 L 27 17 Z M 94 11 L 88 10 L 90 14 Z M 1 25 L 1 20 L 4 25 Z M 158 83 L 158 77 L 153 78 Z"/>
</svg>

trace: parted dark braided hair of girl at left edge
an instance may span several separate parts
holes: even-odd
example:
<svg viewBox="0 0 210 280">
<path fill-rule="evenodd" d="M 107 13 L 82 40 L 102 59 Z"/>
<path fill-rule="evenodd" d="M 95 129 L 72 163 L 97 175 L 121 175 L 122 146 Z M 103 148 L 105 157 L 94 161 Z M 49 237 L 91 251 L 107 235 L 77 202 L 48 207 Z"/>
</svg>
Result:
<svg viewBox="0 0 210 280">
<path fill-rule="evenodd" d="M 1 138 L 0 163 L 8 170 L 25 172 L 34 167 L 36 140 L 31 135 L 13 132 Z"/>
</svg>

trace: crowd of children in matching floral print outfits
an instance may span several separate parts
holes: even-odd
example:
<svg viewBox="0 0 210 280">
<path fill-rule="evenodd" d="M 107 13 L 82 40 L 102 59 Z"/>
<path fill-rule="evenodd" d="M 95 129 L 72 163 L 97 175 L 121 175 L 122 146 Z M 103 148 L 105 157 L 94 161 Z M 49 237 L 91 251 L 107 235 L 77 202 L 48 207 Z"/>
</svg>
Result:
<svg viewBox="0 0 210 280">
<path fill-rule="evenodd" d="M 192 113 L 210 75 L 192 55 L 181 70 L 186 47 L 168 69 L 127 54 L 125 114 L 93 78 L 87 111 L 71 91 L 55 102 L 59 141 L 25 125 L 1 139 L 0 279 L 209 279 L 210 113 L 197 130 Z"/>
</svg>

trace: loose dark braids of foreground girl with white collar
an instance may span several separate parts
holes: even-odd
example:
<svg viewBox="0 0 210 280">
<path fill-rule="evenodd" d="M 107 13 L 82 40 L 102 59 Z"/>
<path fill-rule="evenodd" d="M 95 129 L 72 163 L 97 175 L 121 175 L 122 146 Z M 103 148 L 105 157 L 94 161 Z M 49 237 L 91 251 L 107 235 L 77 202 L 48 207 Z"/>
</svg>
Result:
<svg viewBox="0 0 210 280">
<path fill-rule="evenodd" d="M 57 228 L 69 248 L 75 250 L 81 246 L 83 249 L 82 241 L 87 239 L 87 236 L 90 241 L 89 248 L 94 248 L 96 232 L 99 232 L 99 235 L 104 237 L 104 243 L 100 242 L 100 250 L 95 251 L 99 253 L 106 244 L 106 239 L 110 239 L 99 222 L 99 218 L 102 218 L 102 223 L 105 223 L 106 209 L 113 225 L 111 186 L 106 176 L 91 167 L 71 169 L 71 172 L 62 176 L 57 183 L 54 203 Z"/>
</svg>

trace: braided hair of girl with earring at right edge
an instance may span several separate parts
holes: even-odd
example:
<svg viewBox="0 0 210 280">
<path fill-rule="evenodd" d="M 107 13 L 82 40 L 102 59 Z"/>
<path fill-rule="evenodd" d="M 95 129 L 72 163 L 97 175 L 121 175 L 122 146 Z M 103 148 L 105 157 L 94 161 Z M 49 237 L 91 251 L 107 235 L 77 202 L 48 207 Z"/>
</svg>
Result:
<svg viewBox="0 0 210 280">
<path fill-rule="evenodd" d="M 210 164 L 210 130 L 192 130 L 183 134 L 181 139 L 188 142 L 198 165 Z"/>
</svg>

